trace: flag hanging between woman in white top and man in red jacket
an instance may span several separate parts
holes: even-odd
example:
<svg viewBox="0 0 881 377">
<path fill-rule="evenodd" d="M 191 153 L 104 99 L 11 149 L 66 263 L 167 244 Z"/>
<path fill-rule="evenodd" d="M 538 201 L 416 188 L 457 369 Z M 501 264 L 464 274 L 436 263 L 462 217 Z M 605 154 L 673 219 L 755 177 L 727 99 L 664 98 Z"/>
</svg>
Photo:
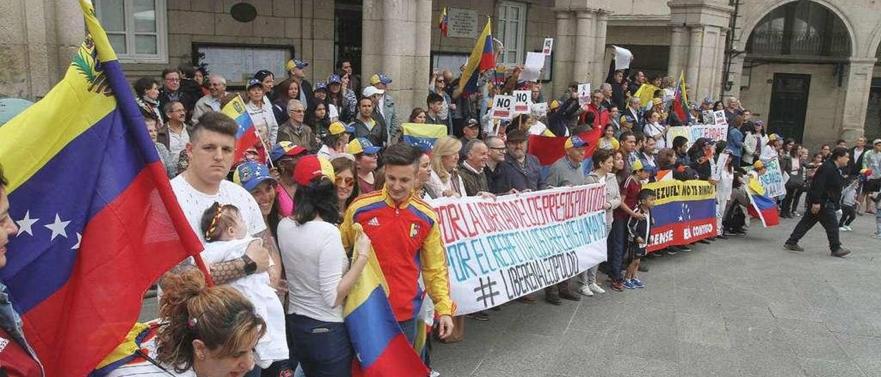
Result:
<svg viewBox="0 0 881 377">
<path fill-rule="evenodd" d="M 389 285 L 380 263 L 371 253 L 343 309 L 356 356 L 352 375 L 428 375 L 428 368 L 401 332 L 388 294 Z"/>
</svg>

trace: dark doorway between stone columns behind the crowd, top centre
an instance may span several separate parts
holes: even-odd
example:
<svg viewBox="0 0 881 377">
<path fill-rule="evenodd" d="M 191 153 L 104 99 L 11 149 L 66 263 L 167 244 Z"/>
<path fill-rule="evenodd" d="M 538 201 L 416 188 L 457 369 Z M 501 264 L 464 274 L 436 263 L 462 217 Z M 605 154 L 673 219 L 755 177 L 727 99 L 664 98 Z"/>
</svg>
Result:
<svg viewBox="0 0 881 377">
<path fill-rule="evenodd" d="M 334 14 L 334 71 L 342 61 L 352 62 L 352 72 L 361 74 L 361 1 L 337 0 Z"/>
</svg>

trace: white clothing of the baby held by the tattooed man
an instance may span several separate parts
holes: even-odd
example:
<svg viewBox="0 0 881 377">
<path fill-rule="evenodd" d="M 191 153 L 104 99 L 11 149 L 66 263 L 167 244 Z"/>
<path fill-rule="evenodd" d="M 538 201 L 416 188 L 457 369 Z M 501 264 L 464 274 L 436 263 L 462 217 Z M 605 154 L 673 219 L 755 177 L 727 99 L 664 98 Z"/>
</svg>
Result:
<svg viewBox="0 0 881 377">
<path fill-rule="evenodd" d="M 254 237 L 246 237 L 241 240 L 218 240 L 205 244 L 202 259 L 205 264 L 216 262 L 229 262 L 241 258 L 248 251 L 251 242 L 263 245 L 263 241 Z M 266 322 L 266 333 L 257 341 L 255 346 L 255 362 L 265 368 L 274 361 L 286 360 L 290 355 L 287 349 L 287 337 L 285 336 L 285 309 L 276 295 L 275 289 L 270 286 L 270 274 L 263 271 L 260 273 L 241 277 L 227 283 L 236 291 L 241 292 L 251 304 L 254 312 Z"/>
</svg>

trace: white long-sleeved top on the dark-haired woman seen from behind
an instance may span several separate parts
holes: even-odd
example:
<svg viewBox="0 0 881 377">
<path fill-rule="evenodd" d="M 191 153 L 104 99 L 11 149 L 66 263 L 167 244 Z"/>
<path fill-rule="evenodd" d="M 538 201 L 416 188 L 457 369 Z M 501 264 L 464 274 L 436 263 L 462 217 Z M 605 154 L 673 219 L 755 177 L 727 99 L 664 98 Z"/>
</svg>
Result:
<svg viewBox="0 0 881 377">
<path fill-rule="evenodd" d="M 343 322 L 343 306 L 334 303 L 349 258 L 337 226 L 322 220 L 300 225 L 283 218 L 278 223 L 278 248 L 287 276 L 287 313 Z"/>
</svg>

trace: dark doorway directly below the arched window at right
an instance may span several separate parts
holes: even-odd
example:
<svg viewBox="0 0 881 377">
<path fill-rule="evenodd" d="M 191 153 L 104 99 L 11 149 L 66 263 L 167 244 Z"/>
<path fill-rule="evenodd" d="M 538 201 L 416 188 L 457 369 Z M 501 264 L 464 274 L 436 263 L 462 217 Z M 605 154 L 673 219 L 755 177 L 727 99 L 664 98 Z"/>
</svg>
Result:
<svg viewBox="0 0 881 377">
<path fill-rule="evenodd" d="M 808 110 L 811 75 L 774 73 L 768 132 L 792 137 L 801 143 L 804 136 L 804 115 Z"/>
</svg>

